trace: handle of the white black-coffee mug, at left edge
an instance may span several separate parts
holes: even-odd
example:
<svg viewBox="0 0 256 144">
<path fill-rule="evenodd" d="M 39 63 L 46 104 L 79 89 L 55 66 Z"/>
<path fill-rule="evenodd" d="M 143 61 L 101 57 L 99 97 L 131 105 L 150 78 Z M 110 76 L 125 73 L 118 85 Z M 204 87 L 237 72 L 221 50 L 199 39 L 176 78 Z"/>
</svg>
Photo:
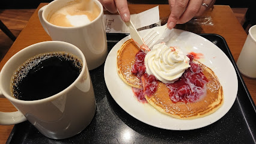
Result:
<svg viewBox="0 0 256 144">
<path fill-rule="evenodd" d="M 5 98 L 0 91 L 0 98 Z M 13 125 L 26 121 L 26 117 L 20 112 L 0 112 L 0 125 Z"/>
</svg>

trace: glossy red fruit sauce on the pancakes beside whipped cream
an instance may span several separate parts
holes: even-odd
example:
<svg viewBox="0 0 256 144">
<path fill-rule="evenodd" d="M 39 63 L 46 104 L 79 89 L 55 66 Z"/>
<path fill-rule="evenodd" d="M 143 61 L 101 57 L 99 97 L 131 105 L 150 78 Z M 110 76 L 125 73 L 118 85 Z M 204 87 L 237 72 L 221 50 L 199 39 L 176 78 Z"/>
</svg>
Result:
<svg viewBox="0 0 256 144">
<path fill-rule="evenodd" d="M 157 79 L 152 74 L 145 73 L 144 58 L 145 53 L 141 50 L 135 56 L 135 64 L 132 67 L 132 73 L 142 81 L 143 89 L 133 88 L 133 93 L 138 101 L 147 103 L 145 94 L 150 97 L 157 90 Z M 195 102 L 206 93 L 206 83 L 209 82 L 204 76 L 200 65 L 195 64 L 193 55 L 187 55 L 190 61 L 190 68 L 174 83 L 165 84 L 169 89 L 169 98 L 173 103 L 178 101 L 183 103 Z"/>
</svg>

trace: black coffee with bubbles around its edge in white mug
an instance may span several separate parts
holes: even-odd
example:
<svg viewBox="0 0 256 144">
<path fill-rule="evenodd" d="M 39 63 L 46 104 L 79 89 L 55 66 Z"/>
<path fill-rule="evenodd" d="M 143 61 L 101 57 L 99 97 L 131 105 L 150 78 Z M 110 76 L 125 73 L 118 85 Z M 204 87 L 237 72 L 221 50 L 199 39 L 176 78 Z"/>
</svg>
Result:
<svg viewBox="0 0 256 144">
<path fill-rule="evenodd" d="M 19 100 L 41 100 L 66 89 L 78 78 L 81 70 L 81 60 L 72 54 L 37 55 L 14 72 L 11 92 Z"/>
</svg>

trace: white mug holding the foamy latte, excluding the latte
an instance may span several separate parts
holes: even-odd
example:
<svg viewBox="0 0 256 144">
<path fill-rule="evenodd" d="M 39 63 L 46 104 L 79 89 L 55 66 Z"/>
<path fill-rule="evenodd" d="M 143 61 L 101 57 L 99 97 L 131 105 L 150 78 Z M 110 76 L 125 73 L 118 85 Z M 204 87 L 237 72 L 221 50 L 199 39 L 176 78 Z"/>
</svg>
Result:
<svg viewBox="0 0 256 144">
<path fill-rule="evenodd" d="M 69 5 L 73 1 L 76 0 L 52 1 L 48 5 L 40 8 L 38 16 L 41 25 L 52 40 L 66 41 L 77 46 L 85 55 L 88 69 L 93 70 L 102 65 L 108 55 L 102 4 L 97 0 L 91 0 L 99 7 L 100 13 L 90 23 L 80 26 L 64 27 L 56 26 L 49 22 L 49 17 L 55 11 Z M 82 1 L 87 2 L 86 0 Z"/>
</svg>

